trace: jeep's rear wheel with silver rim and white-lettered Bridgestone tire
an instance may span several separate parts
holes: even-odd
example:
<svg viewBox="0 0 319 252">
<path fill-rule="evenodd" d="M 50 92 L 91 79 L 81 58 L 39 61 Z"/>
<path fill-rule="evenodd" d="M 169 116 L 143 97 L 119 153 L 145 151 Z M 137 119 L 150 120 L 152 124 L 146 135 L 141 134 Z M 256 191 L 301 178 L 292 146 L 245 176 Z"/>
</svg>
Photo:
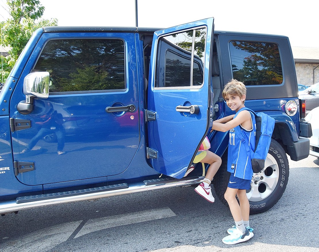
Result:
<svg viewBox="0 0 319 252">
<path fill-rule="evenodd" d="M 224 193 L 230 173 L 226 171 L 227 155 L 225 156 L 222 166 L 215 175 L 213 185 L 219 199 L 227 205 Z M 260 173 L 254 173 L 251 189 L 247 190 L 250 214 L 262 213 L 274 206 L 285 192 L 288 177 L 289 164 L 286 153 L 277 141 L 271 139 L 265 168 Z"/>
</svg>

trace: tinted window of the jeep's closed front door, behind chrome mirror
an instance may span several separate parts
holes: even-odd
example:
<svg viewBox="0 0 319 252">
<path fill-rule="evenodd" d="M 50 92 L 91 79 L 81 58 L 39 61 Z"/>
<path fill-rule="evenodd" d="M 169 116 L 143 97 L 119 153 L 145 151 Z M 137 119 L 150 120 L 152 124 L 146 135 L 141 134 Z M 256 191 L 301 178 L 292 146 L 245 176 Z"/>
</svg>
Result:
<svg viewBox="0 0 319 252">
<path fill-rule="evenodd" d="M 33 71 L 50 73 L 50 92 L 122 90 L 124 43 L 119 39 L 51 40 Z"/>
</svg>

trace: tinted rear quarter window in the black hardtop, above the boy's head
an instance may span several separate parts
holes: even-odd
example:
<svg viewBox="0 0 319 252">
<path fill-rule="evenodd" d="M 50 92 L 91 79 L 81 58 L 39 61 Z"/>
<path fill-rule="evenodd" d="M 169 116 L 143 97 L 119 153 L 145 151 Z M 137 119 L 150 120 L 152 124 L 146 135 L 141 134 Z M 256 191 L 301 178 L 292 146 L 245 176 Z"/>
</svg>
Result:
<svg viewBox="0 0 319 252">
<path fill-rule="evenodd" d="M 283 81 L 277 44 L 231 41 L 233 78 L 250 85 L 279 85 Z"/>
</svg>

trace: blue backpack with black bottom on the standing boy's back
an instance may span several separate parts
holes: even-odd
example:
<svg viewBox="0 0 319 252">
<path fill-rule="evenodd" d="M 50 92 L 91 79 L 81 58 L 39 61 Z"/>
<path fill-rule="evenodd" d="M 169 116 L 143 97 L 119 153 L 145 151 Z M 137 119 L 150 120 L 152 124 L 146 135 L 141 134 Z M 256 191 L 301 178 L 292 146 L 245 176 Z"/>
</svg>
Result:
<svg viewBox="0 0 319 252">
<path fill-rule="evenodd" d="M 265 160 L 268 154 L 272 131 L 275 127 L 275 119 L 271 116 L 259 112 L 255 113 L 255 111 L 249 108 L 241 108 L 241 110 L 248 110 L 255 115 L 256 119 L 256 147 L 255 150 L 252 151 L 248 143 L 245 141 L 243 135 L 241 134 L 241 128 L 238 125 L 235 127 L 235 132 L 241 139 L 241 142 L 244 144 L 248 156 L 251 157 L 251 166 L 254 173 L 258 173 L 265 167 Z"/>
</svg>

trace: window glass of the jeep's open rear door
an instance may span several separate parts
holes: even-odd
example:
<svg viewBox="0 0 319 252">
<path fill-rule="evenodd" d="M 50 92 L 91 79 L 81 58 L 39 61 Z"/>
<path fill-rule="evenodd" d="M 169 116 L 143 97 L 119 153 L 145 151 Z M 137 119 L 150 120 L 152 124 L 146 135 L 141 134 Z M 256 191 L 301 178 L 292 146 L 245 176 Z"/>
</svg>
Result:
<svg viewBox="0 0 319 252">
<path fill-rule="evenodd" d="M 159 39 L 156 87 L 190 87 L 203 84 L 206 29 Z"/>
</svg>

